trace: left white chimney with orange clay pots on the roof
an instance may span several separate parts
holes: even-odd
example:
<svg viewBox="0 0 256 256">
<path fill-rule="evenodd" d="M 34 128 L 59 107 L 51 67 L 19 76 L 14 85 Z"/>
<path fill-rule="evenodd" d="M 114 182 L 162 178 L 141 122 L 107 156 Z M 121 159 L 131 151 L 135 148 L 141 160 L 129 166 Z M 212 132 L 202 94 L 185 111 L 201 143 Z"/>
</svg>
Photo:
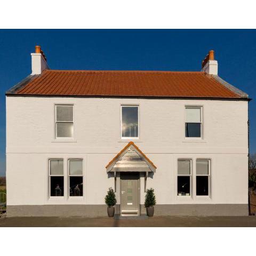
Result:
<svg viewBox="0 0 256 256">
<path fill-rule="evenodd" d="M 41 49 L 41 46 L 36 45 L 35 53 L 31 53 L 31 62 L 32 62 L 32 73 L 31 75 L 40 75 L 43 70 L 49 69 L 46 57 L 44 52 Z"/>
</svg>

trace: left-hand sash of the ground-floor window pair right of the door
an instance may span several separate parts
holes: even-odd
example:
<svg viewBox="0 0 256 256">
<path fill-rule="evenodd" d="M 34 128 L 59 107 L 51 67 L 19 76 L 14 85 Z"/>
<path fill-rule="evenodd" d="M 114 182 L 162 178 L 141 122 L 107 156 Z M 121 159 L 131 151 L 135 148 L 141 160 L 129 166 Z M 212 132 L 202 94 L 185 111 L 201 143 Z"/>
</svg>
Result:
<svg viewBox="0 0 256 256">
<path fill-rule="evenodd" d="M 191 192 L 191 160 L 178 160 L 178 196 L 190 196 Z"/>
</svg>

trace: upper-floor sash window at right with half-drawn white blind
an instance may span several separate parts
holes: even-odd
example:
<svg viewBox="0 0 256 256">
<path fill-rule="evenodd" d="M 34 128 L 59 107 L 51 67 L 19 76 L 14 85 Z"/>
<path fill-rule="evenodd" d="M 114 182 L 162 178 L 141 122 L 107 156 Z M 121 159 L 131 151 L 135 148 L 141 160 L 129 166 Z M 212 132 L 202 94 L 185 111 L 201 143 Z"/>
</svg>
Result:
<svg viewBox="0 0 256 256">
<path fill-rule="evenodd" d="M 202 107 L 186 107 L 185 134 L 187 138 L 202 138 Z"/>
</svg>

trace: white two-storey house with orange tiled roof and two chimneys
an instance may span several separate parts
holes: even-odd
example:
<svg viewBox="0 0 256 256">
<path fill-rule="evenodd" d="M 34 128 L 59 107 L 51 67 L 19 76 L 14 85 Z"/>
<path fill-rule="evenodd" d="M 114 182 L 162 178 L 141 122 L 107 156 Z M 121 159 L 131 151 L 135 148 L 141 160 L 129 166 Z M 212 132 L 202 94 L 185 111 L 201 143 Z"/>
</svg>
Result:
<svg viewBox="0 0 256 256">
<path fill-rule="evenodd" d="M 52 70 L 6 92 L 9 216 L 247 215 L 248 95 L 202 71 Z"/>
</svg>

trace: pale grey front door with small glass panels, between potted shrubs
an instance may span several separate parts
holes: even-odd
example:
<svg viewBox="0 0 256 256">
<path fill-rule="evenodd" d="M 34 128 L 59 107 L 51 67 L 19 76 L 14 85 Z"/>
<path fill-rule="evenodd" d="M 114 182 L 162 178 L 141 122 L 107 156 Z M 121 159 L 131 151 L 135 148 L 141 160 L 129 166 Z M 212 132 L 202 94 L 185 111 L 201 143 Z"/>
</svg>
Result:
<svg viewBox="0 0 256 256">
<path fill-rule="evenodd" d="M 121 173 L 121 215 L 134 216 L 140 214 L 139 207 L 139 173 Z"/>
</svg>

